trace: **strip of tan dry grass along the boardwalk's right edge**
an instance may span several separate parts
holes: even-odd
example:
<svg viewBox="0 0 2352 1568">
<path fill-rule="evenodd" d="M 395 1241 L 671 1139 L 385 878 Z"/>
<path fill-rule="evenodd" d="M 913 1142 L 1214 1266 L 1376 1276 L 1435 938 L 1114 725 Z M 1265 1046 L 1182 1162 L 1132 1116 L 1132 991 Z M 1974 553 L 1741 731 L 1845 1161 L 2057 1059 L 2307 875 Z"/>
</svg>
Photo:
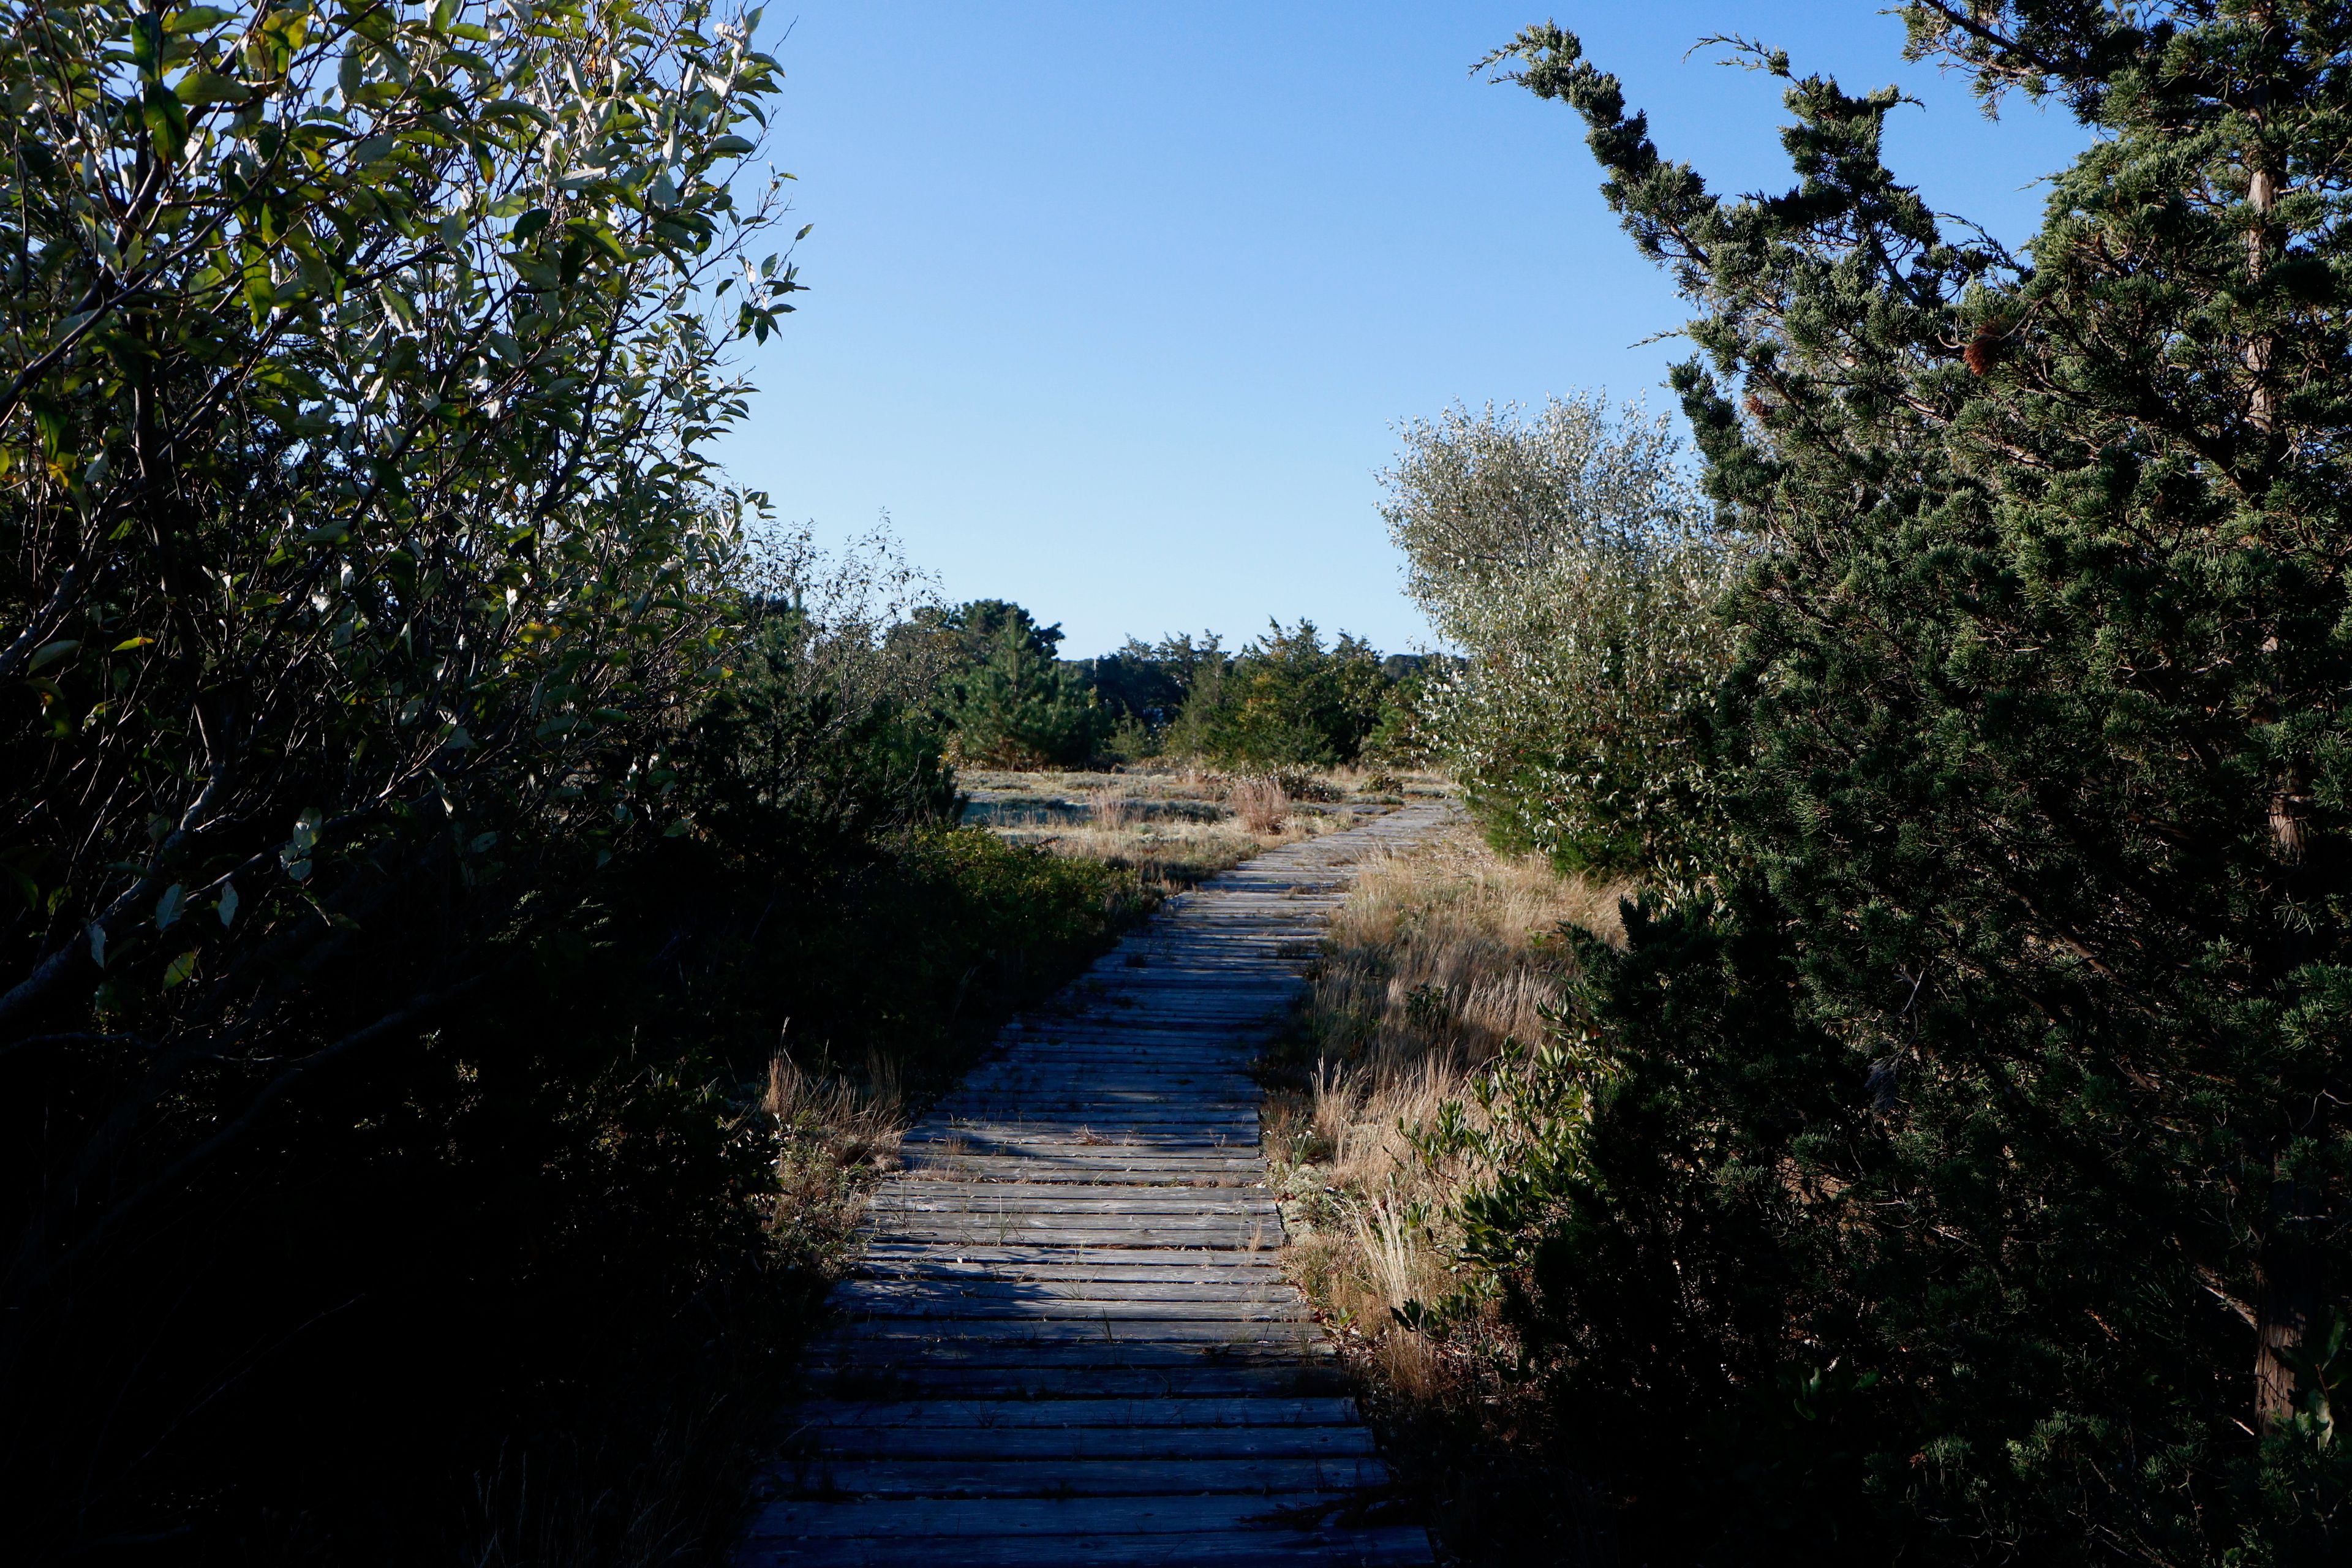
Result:
<svg viewBox="0 0 2352 1568">
<path fill-rule="evenodd" d="M 1541 1410 L 1496 1378 L 1508 1331 L 1454 1265 L 1446 1213 L 1482 1171 L 1463 1157 L 1430 1166 L 1411 1133 L 1449 1100 L 1477 1124 L 1472 1074 L 1508 1041 L 1541 1041 L 1573 978 L 1559 929 L 1621 940 L 1621 893 L 1496 856 L 1465 825 L 1374 860 L 1270 1065 L 1284 1260 L 1364 1375 L 1390 1460 L 1425 1493 L 1449 1561 L 1604 1556 L 1562 1505 L 1573 1476 L 1545 1472 Z"/>
</svg>

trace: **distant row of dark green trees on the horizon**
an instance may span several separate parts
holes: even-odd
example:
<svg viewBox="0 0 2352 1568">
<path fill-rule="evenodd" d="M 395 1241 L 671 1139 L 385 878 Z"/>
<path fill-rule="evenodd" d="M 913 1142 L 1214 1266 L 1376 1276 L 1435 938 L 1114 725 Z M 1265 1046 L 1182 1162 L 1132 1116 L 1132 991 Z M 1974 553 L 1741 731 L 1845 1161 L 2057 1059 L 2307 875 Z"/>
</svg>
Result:
<svg viewBox="0 0 2352 1568">
<path fill-rule="evenodd" d="M 1348 766 L 1414 750 L 1414 701 L 1432 656 L 1324 642 L 1312 621 L 1270 623 L 1225 649 L 1211 635 L 1127 639 L 1061 658 L 1063 632 L 1004 599 L 920 609 L 891 632 L 941 668 L 931 712 L 948 750 L 988 766 L 1200 757 L 1225 766 Z"/>
</svg>

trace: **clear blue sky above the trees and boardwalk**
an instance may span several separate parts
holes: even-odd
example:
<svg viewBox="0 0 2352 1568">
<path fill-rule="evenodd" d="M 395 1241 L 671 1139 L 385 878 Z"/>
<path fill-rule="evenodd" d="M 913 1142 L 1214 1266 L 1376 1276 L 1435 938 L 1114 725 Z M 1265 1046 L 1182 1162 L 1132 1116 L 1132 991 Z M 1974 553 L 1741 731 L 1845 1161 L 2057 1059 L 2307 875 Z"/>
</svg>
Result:
<svg viewBox="0 0 2352 1568">
<path fill-rule="evenodd" d="M 1604 209 L 1559 103 L 1470 63 L 1545 7 L 1712 188 L 1788 183 L 1778 85 L 1684 59 L 1740 33 L 1900 82 L 1889 162 L 2020 242 L 2082 143 L 1987 122 L 1870 0 L 790 0 L 769 155 L 809 294 L 748 353 L 724 456 L 847 541 L 889 512 L 950 599 L 1068 630 L 1310 616 L 1421 644 L 1378 517 L 1395 423 L 1606 388 L 1663 407 L 1684 310 Z"/>
</svg>

